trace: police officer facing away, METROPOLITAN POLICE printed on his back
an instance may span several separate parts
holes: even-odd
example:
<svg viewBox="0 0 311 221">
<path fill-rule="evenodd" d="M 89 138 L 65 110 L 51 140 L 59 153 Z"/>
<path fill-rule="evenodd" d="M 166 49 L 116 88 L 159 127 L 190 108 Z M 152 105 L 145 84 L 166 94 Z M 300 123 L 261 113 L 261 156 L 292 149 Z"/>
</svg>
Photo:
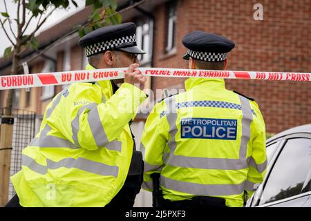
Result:
<svg viewBox="0 0 311 221">
<path fill-rule="evenodd" d="M 191 69 L 225 70 L 234 48 L 231 40 L 200 31 L 182 43 Z M 258 105 L 226 90 L 224 79 L 189 78 L 185 89 L 156 104 L 147 119 L 142 188 L 152 191 L 158 173 L 164 198 L 158 206 L 243 206 L 267 165 Z"/>
</svg>

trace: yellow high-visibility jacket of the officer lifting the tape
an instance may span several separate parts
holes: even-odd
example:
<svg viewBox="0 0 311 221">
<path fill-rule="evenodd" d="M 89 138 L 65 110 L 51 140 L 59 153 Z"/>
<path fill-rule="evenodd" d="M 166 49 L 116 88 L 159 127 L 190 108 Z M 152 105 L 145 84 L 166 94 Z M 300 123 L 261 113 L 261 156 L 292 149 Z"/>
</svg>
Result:
<svg viewBox="0 0 311 221">
<path fill-rule="evenodd" d="M 86 66 L 87 70 L 94 69 Z M 120 191 L 133 153 L 129 121 L 146 95 L 111 81 L 71 84 L 55 96 L 11 177 L 21 206 L 105 206 Z"/>
</svg>

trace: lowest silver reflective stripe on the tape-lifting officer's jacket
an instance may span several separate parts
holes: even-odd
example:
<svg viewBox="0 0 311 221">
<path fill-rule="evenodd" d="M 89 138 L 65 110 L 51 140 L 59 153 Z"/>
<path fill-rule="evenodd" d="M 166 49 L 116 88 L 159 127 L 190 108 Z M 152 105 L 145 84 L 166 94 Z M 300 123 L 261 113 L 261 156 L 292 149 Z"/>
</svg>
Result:
<svg viewBox="0 0 311 221">
<path fill-rule="evenodd" d="M 111 175 L 117 177 L 118 167 L 109 166 L 100 162 L 95 162 L 92 160 L 87 160 L 82 157 L 74 158 L 64 158 L 59 162 L 54 162 L 52 160 L 46 160 L 47 166 L 38 164 L 34 159 L 28 157 L 27 155 L 22 155 L 22 165 L 27 166 L 32 171 L 45 175 L 48 169 L 59 169 L 66 167 L 68 169 L 75 168 L 88 173 L 95 173 L 97 175 Z"/>
</svg>

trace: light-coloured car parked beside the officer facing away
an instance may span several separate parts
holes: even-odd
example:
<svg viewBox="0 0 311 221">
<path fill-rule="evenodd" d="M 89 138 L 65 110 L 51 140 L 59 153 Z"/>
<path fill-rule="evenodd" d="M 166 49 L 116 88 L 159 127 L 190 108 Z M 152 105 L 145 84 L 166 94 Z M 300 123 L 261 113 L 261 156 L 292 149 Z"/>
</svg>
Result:
<svg viewBox="0 0 311 221">
<path fill-rule="evenodd" d="M 267 140 L 265 180 L 246 207 L 311 207 L 311 124 Z"/>
</svg>

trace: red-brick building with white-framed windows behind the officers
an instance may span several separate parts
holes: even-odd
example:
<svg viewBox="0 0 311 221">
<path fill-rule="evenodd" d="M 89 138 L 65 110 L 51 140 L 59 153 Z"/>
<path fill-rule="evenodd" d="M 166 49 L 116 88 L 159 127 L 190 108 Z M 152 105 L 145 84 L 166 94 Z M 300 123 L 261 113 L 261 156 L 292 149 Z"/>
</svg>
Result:
<svg viewBox="0 0 311 221">
<path fill-rule="evenodd" d="M 119 9 L 140 1 L 118 1 Z M 311 1 L 261 1 L 263 20 L 253 17 L 255 0 L 149 0 L 138 7 L 122 12 L 122 22 L 133 21 L 138 26 L 138 45 L 149 52 L 142 65 L 167 68 L 187 68 L 182 60 L 186 48 L 182 37 L 194 30 L 214 32 L 232 39 L 236 48 L 229 54 L 229 70 L 265 70 L 311 72 Z M 57 25 L 41 32 L 41 48 L 70 31 L 76 23 L 84 23 L 91 9 L 86 8 Z M 77 45 L 77 33 L 62 39 L 44 55 L 35 59 L 30 73 L 79 70 L 86 64 L 82 48 Z M 27 60 L 35 53 L 28 52 Z M 10 61 L 0 60 L 1 74 L 8 73 Z M 182 89 L 185 79 L 152 77 L 147 88 Z M 311 84 L 294 81 L 261 81 L 226 79 L 229 90 L 238 90 L 254 97 L 265 119 L 268 133 L 311 123 Z M 15 107 L 44 113 L 50 100 L 62 86 L 17 90 Z M 6 91 L 0 91 L 0 105 L 4 106 Z M 156 97 L 160 99 L 160 97 Z M 138 115 L 133 127 L 136 142 L 147 115 Z M 37 120 L 39 126 L 40 117 Z M 150 195 L 142 195 L 138 206 L 151 205 Z"/>
</svg>

